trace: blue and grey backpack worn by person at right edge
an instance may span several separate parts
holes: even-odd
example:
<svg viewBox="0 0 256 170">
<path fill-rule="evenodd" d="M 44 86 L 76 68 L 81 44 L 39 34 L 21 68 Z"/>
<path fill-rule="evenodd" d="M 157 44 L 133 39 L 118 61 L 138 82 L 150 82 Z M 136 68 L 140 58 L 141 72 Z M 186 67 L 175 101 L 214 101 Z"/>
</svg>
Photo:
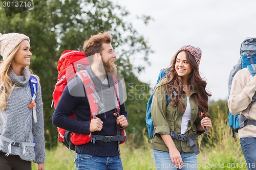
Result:
<svg viewBox="0 0 256 170">
<path fill-rule="evenodd" d="M 247 37 L 241 44 L 240 48 L 241 57 L 238 60 L 238 64 L 234 66 L 234 68 L 230 71 L 229 79 L 228 79 L 228 98 L 230 94 L 231 84 L 234 75 L 243 68 L 248 68 L 251 72 L 251 75 L 254 76 L 256 73 L 256 37 Z M 237 115 L 232 115 L 229 111 L 228 116 L 228 125 L 232 129 L 232 136 L 235 138 L 234 132 L 238 132 L 238 129 L 243 128 L 245 125 L 254 125 L 256 126 L 256 121 L 250 119 L 250 108 L 252 103 L 256 101 L 256 92 L 252 97 L 252 101 L 249 104 L 248 115 L 249 117 L 245 117 L 243 114 L 238 113 Z"/>
</svg>

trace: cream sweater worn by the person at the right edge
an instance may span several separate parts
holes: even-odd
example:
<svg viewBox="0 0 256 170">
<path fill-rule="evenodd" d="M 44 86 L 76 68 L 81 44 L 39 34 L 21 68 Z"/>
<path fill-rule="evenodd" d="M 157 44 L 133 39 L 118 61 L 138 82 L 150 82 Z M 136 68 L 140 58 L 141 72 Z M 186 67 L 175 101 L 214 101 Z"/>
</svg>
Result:
<svg viewBox="0 0 256 170">
<path fill-rule="evenodd" d="M 256 81 L 250 81 L 250 76 L 248 68 L 241 69 L 234 75 L 228 99 L 228 108 L 233 115 L 242 112 L 248 117 L 248 105 L 256 91 Z M 256 102 L 250 109 L 250 119 L 256 120 Z M 256 126 L 246 125 L 239 129 L 238 137 L 256 137 Z"/>
</svg>

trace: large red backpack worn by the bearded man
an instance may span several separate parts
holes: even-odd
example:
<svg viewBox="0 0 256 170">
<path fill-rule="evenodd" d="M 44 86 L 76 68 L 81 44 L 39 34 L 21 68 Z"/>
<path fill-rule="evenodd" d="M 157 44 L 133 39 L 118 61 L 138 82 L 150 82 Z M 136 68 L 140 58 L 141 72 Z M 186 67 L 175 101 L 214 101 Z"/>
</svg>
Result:
<svg viewBox="0 0 256 170">
<path fill-rule="evenodd" d="M 64 51 L 59 58 L 58 61 L 58 79 L 53 91 L 53 104 L 54 108 L 56 108 L 57 103 L 60 99 L 60 96 L 66 87 L 67 83 L 72 80 L 75 76 L 79 77 L 86 89 L 91 109 L 91 118 L 96 118 L 98 106 L 100 103 L 96 101 L 100 101 L 95 99 L 95 96 L 98 96 L 94 84 L 86 71 L 86 66 L 90 65 L 84 52 L 75 51 L 75 50 L 66 50 Z M 120 111 L 120 103 L 119 103 L 119 88 L 118 81 L 115 76 L 113 76 L 114 84 L 115 84 L 115 93 L 116 93 L 116 112 L 119 116 Z M 87 88 L 86 88 L 87 87 Z M 74 118 L 74 113 L 71 114 L 72 118 Z M 78 134 L 69 132 L 65 129 L 57 127 L 58 138 L 59 141 L 66 145 L 67 148 L 71 150 L 75 150 L 75 145 L 86 144 L 90 141 L 95 143 L 96 140 L 110 142 L 110 141 L 118 141 L 119 144 L 123 143 L 126 140 L 125 131 L 117 127 L 116 136 L 100 136 L 90 134 Z"/>
</svg>

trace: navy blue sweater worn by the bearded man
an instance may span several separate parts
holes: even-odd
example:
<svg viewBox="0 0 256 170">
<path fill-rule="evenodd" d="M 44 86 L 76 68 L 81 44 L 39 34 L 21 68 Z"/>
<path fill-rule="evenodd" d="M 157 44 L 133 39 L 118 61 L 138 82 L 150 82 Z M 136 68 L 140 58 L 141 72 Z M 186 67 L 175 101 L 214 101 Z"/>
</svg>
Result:
<svg viewBox="0 0 256 170">
<path fill-rule="evenodd" d="M 101 131 L 93 132 L 93 135 L 115 136 L 117 135 L 116 117 L 113 115 L 115 112 L 115 91 L 113 78 L 109 78 L 109 85 L 102 84 L 98 77 L 88 66 L 87 70 L 94 82 L 95 89 L 100 96 L 100 101 L 105 105 L 105 112 L 97 114 L 103 122 Z M 119 100 L 120 100 L 120 115 L 127 118 L 127 112 L 123 101 L 123 88 L 119 82 Z M 101 110 L 98 107 L 98 112 Z M 75 119 L 70 118 L 71 112 L 74 111 Z M 127 118 L 128 119 L 128 118 Z M 75 133 L 89 134 L 91 123 L 91 111 L 86 91 L 79 78 L 71 80 L 66 88 L 63 90 L 61 98 L 56 106 L 52 117 L 53 125 L 66 129 Z M 76 153 L 84 153 L 95 156 L 116 156 L 119 155 L 118 142 L 103 142 L 96 141 L 95 143 L 89 142 L 82 145 L 76 145 Z"/>
</svg>

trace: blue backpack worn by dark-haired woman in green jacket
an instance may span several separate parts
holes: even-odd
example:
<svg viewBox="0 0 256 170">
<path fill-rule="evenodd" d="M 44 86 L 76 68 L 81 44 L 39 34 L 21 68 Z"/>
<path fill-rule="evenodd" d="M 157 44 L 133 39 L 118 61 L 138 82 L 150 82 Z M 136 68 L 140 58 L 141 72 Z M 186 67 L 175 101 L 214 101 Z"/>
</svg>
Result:
<svg viewBox="0 0 256 170">
<path fill-rule="evenodd" d="M 166 72 L 167 72 L 167 68 L 163 68 L 161 69 L 158 78 L 157 78 L 157 83 L 156 85 L 159 83 L 159 81 L 161 79 L 163 79 L 164 77 L 166 77 Z M 151 116 L 151 103 L 153 100 L 153 96 L 154 96 L 154 90 L 156 88 L 156 85 L 153 88 L 153 91 L 151 93 L 150 99 L 148 99 L 147 104 L 146 104 L 146 127 L 147 127 L 147 132 L 148 132 L 148 136 L 150 136 L 150 138 L 153 138 L 154 135 L 154 125 L 153 125 L 153 120 L 152 120 L 152 116 Z M 166 100 L 167 100 L 167 105 L 170 103 L 170 96 L 168 94 L 166 94 Z"/>
</svg>

